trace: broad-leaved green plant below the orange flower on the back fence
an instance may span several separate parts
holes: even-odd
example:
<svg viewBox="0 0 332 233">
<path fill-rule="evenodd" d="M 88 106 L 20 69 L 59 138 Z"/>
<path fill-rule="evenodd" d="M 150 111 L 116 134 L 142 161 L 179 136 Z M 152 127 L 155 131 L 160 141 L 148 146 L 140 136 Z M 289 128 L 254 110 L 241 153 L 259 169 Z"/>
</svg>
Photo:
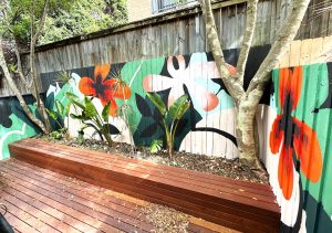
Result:
<svg viewBox="0 0 332 233">
<path fill-rule="evenodd" d="M 102 139 L 106 139 L 108 146 L 111 147 L 113 141 L 110 134 L 110 106 L 111 104 L 107 103 L 107 105 L 104 106 L 102 116 L 98 114 L 97 109 L 93 105 L 91 98 L 84 97 L 84 100 L 81 102 L 79 99 L 79 96 L 76 96 L 73 93 L 68 92 L 65 96 L 69 98 L 70 103 L 79 108 L 81 108 L 81 114 L 71 114 L 70 116 L 73 119 L 79 119 L 83 124 L 85 124 L 89 127 L 92 127 Z M 89 123 L 86 123 L 89 120 Z M 103 137 L 104 138 L 103 138 Z"/>
</svg>

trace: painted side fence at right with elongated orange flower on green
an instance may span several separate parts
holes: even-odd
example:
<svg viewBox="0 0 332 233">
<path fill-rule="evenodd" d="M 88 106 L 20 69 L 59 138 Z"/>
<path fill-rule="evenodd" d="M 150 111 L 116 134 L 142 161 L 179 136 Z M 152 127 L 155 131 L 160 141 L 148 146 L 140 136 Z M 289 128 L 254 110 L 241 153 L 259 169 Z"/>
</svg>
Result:
<svg viewBox="0 0 332 233">
<path fill-rule="evenodd" d="M 272 78 L 276 92 L 258 115 L 281 232 L 330 232 L 332 63 L 274 70 Z"/>
</svg>

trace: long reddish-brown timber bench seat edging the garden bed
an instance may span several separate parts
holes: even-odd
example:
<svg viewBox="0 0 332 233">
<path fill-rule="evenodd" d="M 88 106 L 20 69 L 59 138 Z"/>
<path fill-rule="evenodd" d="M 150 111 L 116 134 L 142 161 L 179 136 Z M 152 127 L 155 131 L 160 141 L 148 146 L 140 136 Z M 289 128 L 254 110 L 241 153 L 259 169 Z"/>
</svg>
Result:
<svg viewBox="0 0 332 233">
<path fill-rule="evenodd" d="M 13 158 L 243 232 L 278 232 L 267 184 L 156 165 L 38 139 L 9 146 Z"/>
</svg>

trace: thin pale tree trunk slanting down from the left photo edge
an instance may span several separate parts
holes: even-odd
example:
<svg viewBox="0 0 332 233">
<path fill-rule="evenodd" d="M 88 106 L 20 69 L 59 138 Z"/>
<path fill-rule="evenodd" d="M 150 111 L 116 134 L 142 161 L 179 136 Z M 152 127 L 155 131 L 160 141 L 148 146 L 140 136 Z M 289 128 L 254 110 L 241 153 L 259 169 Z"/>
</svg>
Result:
<svg viewBox="0 0 332 233">
<path fill-rule="evenodd" d="M 2 38 L 1 36 L 0 36 L 0 44 L 2 44 Z M 31 109 L 27 105 L 21 92 L 19 91 L 17 84 L 14 83 L 14 80 L 10 75 L 10 72 L 7 67 L 7 63 L 6 63 L 6 60 L 4 60 L 2 46 L 0 46 L 0 66 L 3 71 L 4 78 L 7 80 L 7 82 L 9 84 L 9 87 L 12 89 L 12 92 L 18 97 L 18 99 L 20 102 L 20 105 L 23 108 L 27 116 L 29 117 L 29 119 L 31 119 L 31 121 L 34 123 L 44 134 L 48 134 L 49 131 L 45 128 L 44 124 L 33 115 L 33 113 L 31 112 Z"/>
</svg>

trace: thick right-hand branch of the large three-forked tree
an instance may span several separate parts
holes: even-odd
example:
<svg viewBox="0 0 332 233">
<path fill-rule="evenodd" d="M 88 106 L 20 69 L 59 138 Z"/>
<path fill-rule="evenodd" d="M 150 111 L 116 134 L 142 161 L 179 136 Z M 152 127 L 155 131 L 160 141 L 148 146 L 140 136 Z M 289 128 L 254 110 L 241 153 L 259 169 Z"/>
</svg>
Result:
<svg viewBox="0 0 332 233">
<path fill-rule="evenodd" d="M 263 92 L 266 83 L 270 80 L 270 72 L 274 68 L 295 38 L 309 2 L 310 0 L 294 0 L 292 10 L 289 12 L 286 23 L 280 29 L 277 40 L 272 44 L 270 52 L 249 84 L 247 89 L 248 94 L 252 91 L 255 91 L 256 95 L 257 92 Z"/>
</svg>

